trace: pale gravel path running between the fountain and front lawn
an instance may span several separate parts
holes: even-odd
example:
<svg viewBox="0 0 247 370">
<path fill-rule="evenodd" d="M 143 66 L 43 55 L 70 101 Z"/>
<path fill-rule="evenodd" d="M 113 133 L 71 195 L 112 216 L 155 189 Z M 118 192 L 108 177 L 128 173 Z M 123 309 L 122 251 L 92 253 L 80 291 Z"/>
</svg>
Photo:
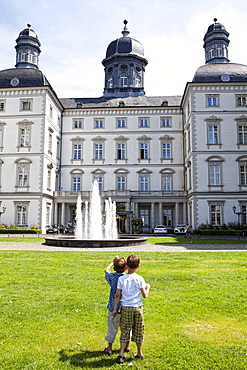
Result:
<svg viewBox="0 0 247 370">
<path fill-rule="evenodd" d="M 26 251 L 63 251 L 63 252 L 108 252 L 108 251 L 132 251 L 132 252 L 202 252 L 202 251 L 247 251 L 247 244 L 142 244 L 131 247 L 115 248 L 68 248 L 51 247 L 42 243 L 1 242 L 0 250 L 26 250 Z"/>
</svg>

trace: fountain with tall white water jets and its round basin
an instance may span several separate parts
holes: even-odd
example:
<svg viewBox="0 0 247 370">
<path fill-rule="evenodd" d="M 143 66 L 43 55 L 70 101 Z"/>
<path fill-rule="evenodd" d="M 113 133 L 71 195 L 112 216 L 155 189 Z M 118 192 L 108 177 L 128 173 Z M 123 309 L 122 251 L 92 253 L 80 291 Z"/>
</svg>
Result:
<svg viewBox="0 0 247 370">
<path fill-rule="evenodd" d="M 146 238 L 133 236 L 118 236 L 116 203 L 111 198 L 106 199 L 105 211 L 102 212 L 98 182 L 94 181 L 89 203 L 88 201 L 83 203 L 81 195 L 77 197 L 75 236 L 46 237 L 45 244 L 63 247 L 99 248 L 142 244 L 146 240 Z"/>
</svg>

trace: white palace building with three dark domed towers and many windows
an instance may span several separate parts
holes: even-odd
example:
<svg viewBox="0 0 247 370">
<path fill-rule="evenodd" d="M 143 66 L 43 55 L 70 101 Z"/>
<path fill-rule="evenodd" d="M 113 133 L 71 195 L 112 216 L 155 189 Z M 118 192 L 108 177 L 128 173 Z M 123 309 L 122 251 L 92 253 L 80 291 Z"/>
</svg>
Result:
<svg viewBox="0 0 247 370">
<path fill-rule="evenodd" d="M 15 68 L 0 71 L 1 222 L 43 232 L 73 222 L 96 179 L 102 199 L 116 201 L 120 232 L 132 232 L 132 215 L 143 232 L 227 224 L 237 221 L 233 206 L 246 224 L 247 66 L 229 62 L 228 36 L 215 19 L 184 94 L 149 97 L 148 61 L 124 21 L 102 62 L 103 96 L 59 99 L 28 24 Z"/>
</svg>

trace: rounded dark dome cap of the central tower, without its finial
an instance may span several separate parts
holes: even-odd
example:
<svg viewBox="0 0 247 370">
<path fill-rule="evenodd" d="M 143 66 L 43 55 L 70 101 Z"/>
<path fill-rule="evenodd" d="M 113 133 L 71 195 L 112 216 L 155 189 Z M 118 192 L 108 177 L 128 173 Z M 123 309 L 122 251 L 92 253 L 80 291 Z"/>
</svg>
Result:
<svg viewBox="0 0 247 370">
<path fill-rule="evenodd" d="M 106 50 L 106 59 L 116 54 L 144 55 L 142 44 L 131 37 L 120 37 L 112 41 Z"/>
</svg>

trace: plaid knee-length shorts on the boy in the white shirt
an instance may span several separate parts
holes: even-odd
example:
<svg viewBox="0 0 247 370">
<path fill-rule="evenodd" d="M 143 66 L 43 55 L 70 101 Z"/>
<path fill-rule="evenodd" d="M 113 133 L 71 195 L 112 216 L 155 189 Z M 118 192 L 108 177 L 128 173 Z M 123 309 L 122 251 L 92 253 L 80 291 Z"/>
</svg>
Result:
<svg viewBox="0 0 247 370">
<path fill-rule="evenodd" d="M 144 317 L 142 307 L 122 307 L 120 342 L 130 340 L 132 330 L 132 342 L 142 343 L 144 340 Z"/>
</svg>

